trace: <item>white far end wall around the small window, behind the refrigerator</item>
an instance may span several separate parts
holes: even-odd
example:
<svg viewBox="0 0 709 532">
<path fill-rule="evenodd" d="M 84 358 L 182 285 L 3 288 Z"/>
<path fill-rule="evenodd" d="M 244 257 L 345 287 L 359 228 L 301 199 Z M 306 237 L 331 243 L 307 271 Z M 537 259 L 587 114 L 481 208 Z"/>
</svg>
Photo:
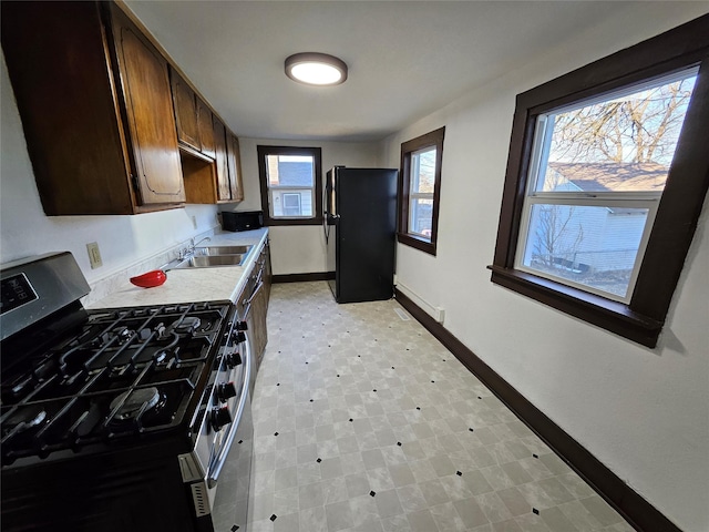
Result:
<svg viewBox="0 0 709 532">
<path fill-rule="evenodd" d="M 258 155 L 256 152 L 258 144 L 321 147 L 323 178 L 326 172 L 335 165 L 376 167 L 380 158 L 378 143 L 239 139 L 245 201 L 238 204 L 236 207 L 238 211 L 261 209 Z M 399 163 L 392 167 L 398 166 Z M 325 237 L 322 236 L 322 226 L 298 225 L 270 227 L 269 236 L 274 274 L 285 275 L 327 272 L 327 249 Z"/>
</svg>

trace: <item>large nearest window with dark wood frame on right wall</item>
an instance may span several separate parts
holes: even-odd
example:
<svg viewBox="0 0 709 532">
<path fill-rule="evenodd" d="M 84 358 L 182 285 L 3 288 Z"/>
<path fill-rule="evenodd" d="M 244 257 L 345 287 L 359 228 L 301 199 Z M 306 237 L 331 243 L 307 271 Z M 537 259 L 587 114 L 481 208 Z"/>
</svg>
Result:
<svg viewBox="0 0 709 532">
<path fill-rule="evenodd" d="M 517 96 L 493 283 L 657 344 L 708 188 L 707 21 Z"/>
</svg>

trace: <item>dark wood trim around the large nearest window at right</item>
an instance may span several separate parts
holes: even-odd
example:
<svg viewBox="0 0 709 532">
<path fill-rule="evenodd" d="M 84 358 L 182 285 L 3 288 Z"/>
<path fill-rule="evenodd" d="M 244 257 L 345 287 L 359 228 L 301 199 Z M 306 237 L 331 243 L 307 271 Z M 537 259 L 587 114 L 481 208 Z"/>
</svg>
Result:
<svg viewBox="0 0 709 532">
<path fill-rule="evenodd" d="M 500 213 L 493 283 L 647 347 L 655 347 L 709 190 L 709 16 L 517 95 Z M 552 109 L 699 65 L 629 304 L 514 268 L 536 117 Z"/>
</svg>

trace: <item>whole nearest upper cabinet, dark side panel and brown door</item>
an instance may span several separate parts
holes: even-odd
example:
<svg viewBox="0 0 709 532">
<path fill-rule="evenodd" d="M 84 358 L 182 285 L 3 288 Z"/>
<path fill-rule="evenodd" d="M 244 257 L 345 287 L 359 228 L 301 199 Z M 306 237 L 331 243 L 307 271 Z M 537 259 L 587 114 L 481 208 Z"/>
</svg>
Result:
<svg viewBox="0 0 709 532">
<path fill-rule="evenodd" d="M 167 63 L 113 3 L 9 2 L 1 40 L 48 215 L 185 201 Z"/>
</svg>

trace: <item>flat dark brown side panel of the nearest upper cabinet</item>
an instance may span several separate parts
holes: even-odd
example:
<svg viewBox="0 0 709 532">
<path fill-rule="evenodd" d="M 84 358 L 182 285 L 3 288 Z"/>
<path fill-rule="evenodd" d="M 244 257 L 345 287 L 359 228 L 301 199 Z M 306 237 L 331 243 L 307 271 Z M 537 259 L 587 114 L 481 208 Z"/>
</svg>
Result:
<svg viewBox="0 0 709 532">
<path fill-rule="evenodd" d="M 12 82 L 3 101 L 14 93 L 44 213 L 133 214 L 120 104 L 99 6 L 0 6 L 2 53 Z M 9 144 L 8 150 L 3 146 L 3 157 L 10 157 L 9 151 Z"/>
</svg>

